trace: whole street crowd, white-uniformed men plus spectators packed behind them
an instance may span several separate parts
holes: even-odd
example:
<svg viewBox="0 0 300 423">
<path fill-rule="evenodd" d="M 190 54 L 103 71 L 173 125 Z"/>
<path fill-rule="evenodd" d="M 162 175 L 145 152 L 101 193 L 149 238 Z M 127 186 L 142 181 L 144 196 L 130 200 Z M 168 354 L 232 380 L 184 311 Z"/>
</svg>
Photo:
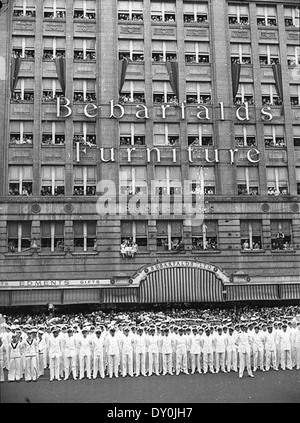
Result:
<svg viewBox="0 0 300 423">
<path fill-rule="evenodd" d="M 0 381 L 300 369 L 300 307 L 0 315 Z"/>
</svg>

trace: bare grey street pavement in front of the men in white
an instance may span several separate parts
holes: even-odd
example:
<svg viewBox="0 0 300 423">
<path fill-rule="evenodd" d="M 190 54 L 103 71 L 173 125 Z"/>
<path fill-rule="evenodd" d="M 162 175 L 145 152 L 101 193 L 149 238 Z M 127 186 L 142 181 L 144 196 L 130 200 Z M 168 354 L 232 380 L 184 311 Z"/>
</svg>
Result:
<svg viewBox="0 0 300 423">
<path fill-rule="evenodd" d="M 1 403 L 300 403 L 300 371 L 1 383 Z"/>
</svg>

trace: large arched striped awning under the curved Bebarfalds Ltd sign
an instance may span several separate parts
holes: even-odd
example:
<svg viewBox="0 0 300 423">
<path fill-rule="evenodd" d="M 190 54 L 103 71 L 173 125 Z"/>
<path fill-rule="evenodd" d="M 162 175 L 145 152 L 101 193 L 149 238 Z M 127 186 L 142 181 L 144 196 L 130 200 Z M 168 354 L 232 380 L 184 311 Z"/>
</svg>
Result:
<svg viewBox="0 0 300 423">
<path fill-rule="evenodd" d="M 202 269 L 161 269 L 141 283 L 140 302 L 223 302 L 223 283 L 215 273 Z"/>
</svg>

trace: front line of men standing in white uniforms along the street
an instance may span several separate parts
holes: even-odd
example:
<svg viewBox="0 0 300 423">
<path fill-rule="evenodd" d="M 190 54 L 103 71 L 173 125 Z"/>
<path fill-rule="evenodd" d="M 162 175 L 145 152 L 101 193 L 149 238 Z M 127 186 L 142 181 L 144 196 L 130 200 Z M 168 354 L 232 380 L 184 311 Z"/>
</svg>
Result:
<svg viewBox="0 0 300 423">
<path fill-rule="evenodd" d="M 6 327 L 0 334 L 0 381 L 300 369 L 300 323 L 236 327 L 86 324 Z"/>
</svg>

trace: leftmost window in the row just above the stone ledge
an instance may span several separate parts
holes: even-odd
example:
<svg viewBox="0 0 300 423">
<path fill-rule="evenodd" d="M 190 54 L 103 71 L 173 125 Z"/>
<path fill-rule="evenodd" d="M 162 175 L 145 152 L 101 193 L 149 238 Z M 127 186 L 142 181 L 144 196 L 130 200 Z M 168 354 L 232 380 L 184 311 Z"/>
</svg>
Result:
<svg viewBox="0 0 300 423">
<path fill-rule="evenodd" d="M 9 195 L 32 195 L 32 166 L 9 166 Z"/>
</svg>

